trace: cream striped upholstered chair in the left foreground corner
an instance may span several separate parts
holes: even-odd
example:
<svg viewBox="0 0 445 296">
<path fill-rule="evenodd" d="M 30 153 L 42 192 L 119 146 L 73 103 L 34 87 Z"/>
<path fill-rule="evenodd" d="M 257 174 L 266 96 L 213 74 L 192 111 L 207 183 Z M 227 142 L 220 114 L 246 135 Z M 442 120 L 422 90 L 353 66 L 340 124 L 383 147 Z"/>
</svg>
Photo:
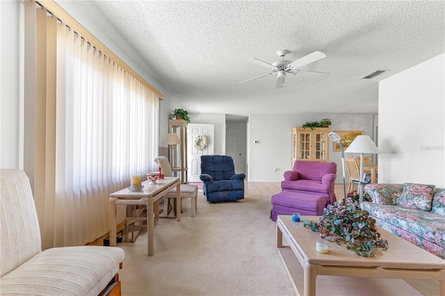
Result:
<svg viewBox="0 0 445 296">
<path fill-rule="evenodd" d="M 120 295 L 119 247 L 54 247 L 42 252 L 31 186 L 21 170 L 1 170 L 0 295 Z"/>
</svg>

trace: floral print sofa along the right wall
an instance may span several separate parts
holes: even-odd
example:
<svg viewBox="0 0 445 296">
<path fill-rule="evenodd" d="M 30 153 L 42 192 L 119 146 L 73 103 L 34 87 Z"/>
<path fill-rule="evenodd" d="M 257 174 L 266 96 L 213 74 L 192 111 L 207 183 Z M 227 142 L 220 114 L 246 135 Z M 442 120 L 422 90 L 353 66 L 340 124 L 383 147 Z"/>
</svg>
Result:
<svg viewBox="0 0 445 296">
<path fill-rule="evenodd" d="M 445 258 L 445 189 L 415 183 L 367 184 L 363 202 L 378 226 Z"/>
</svg>

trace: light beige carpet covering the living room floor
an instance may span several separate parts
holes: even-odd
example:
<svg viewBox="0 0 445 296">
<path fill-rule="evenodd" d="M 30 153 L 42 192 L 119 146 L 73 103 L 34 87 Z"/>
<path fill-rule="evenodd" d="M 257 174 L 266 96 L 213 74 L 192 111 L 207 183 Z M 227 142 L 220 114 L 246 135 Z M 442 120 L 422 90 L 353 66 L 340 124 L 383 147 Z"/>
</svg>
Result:
<svg viewBox="0 0 445 296">
<path fill-rule="evenodd" d="M 154 256 L 147 256 L 146 233 L 118 244 L 122 295 L 295 295 L 277 254 L 270 196 L 211 204 L 200 191 L 194 218 L 189 199 L 182 206 L 181 222 L 156 224 Z M 439 295 L 437 281 L 412 286 Z"/>
</svg>

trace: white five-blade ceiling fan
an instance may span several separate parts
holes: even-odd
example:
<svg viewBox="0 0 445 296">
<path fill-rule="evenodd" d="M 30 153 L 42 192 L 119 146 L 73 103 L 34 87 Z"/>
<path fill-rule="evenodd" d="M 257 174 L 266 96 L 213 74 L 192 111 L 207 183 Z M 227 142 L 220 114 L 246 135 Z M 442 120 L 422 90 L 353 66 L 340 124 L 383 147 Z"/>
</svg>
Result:
<svg viewBox="0 0 445 296">
<path fill-rule="evenodd" d="M 281 57 L 281 60 L 277 60 L 276 62 L 269 64 L 266 63 L 262 60 L 259 60 L 257 58 L 250 58 L 249 60 L 252 60 L 253 63 L 256 63 L 258 65 L 261 65 L 263 67 L 266 67 L 268 69 L 270 69 L 270 73 L 268 74 L 264 74 L 252 79 L 248 79 L 245 81 L 241 81 L 238 82 L 239 83 L 245 83 L 248 81 L 252 81 L 255 79 L 260 79 L 262 77 L 266 77 L 266 76 L 270 76 L 270 75 L 274 75 L 277 74 L 277 81 L 275 83 L 275 88 L 282 88 L 284 86 L 284 79 L 286 79 L 286 73 L 291 73 L 291 74 L 302 74 L 304 76 L 310 76 L 310 77 L 314 77 L 314 76 L 325 76 L 325 75 L 329 75 L 330 73 L 326 73 L 326 72 L 315 72 L 315 71 L 307 71 L 307 70 L 300 70 L 298 69 L 299 67 L 302 67 L 304 65 L 307 65 L 309 63 L 313 63 L 316 60 L 320 60 L 321 58 L 325 58 L 326 55 L 323 54 L 323 52 L 321 51 L 314 51 L 312 54 L 308 54 L 307 56 L 303 56 L 302 58 L 292 62 L 291 60 L 284 60 L 284 56 L 286 56 L 286 54 L 290 54 L 291 51 L 287 50 L 287 49 L 281 49 L 277 52 L 278 56 Z"/>
</svg>

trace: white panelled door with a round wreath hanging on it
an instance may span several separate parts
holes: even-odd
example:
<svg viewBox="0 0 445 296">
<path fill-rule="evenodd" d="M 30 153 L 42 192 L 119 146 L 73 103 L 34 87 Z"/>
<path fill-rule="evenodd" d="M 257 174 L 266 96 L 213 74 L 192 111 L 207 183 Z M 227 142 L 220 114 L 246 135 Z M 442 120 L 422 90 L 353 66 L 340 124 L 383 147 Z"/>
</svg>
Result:
<svg viewBox="0 0 445 296">
<path fill-rule="evenodd" d="M 188 124 L 187 126 L 187 163 L 189 182 L 201 182 L 201 156 L 213 154 L 213 149 L 215 147 L 214 131 L 214 124 Z M 207 137 L 208 143 L 204 149 L 197 149 L 193 145 L 198 135 L 205 135 Z"/>
</svg>

